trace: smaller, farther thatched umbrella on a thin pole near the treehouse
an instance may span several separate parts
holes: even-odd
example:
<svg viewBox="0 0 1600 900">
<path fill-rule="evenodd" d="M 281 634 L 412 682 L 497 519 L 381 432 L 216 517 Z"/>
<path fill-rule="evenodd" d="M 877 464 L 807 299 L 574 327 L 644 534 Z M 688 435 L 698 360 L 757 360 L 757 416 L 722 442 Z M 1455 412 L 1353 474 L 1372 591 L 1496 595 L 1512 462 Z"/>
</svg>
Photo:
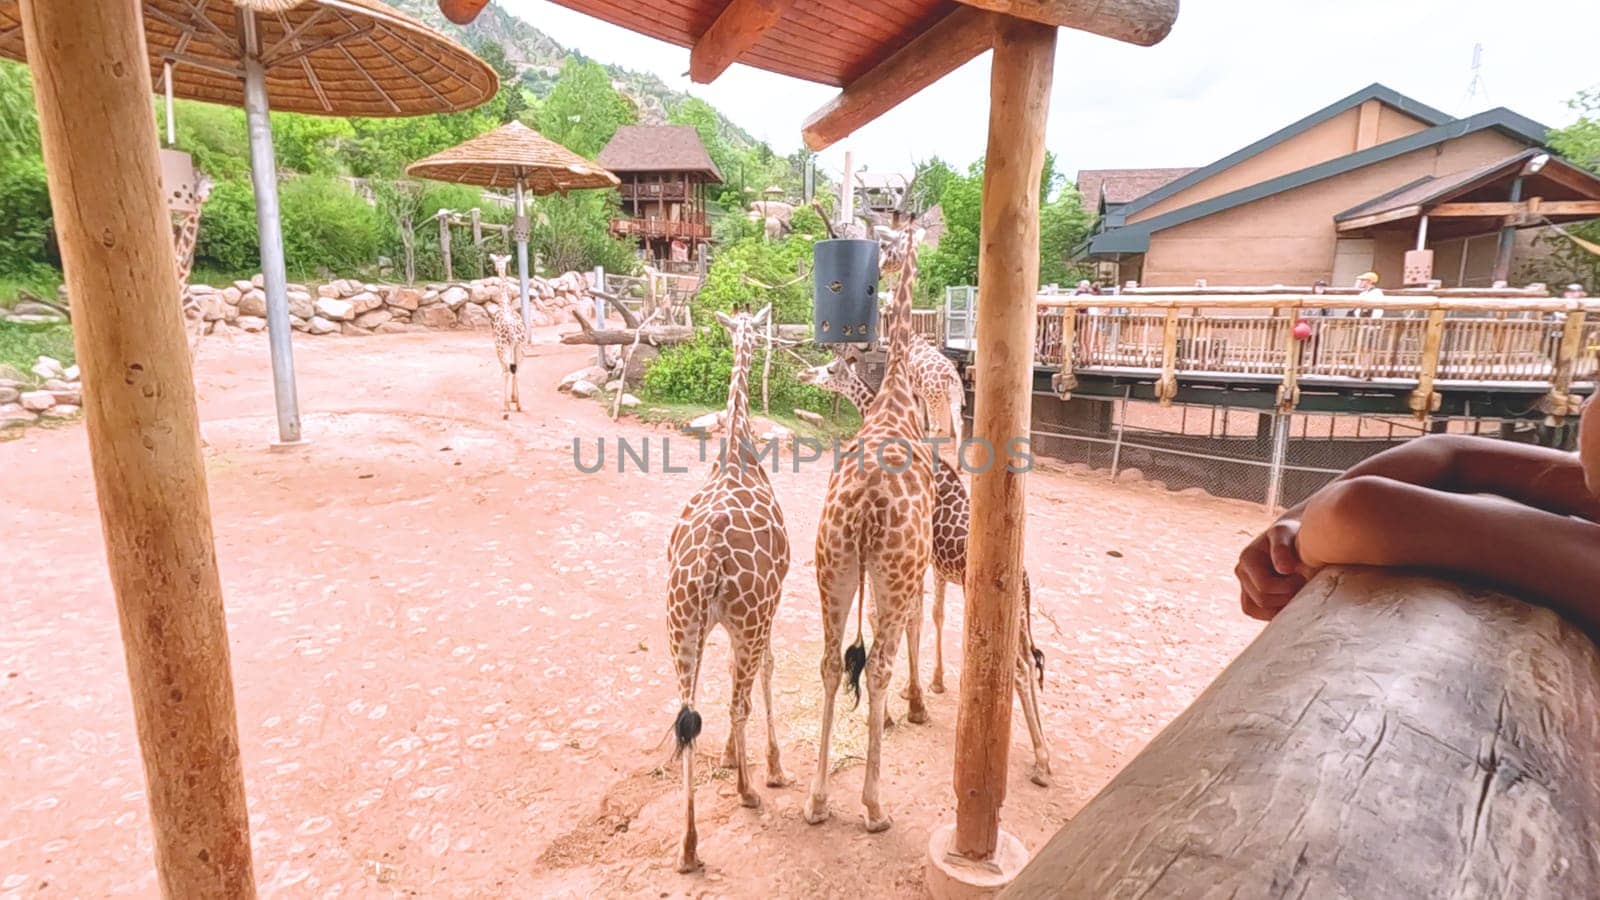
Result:
<svg viewBox="0 0 1600 900">
<path fill-rule="evenodd" d="M 406 175 L 517 192 L 517 280 L 522 291 L 522 323 L 528 325 L 528 205 L 525 195 L 566 194 L 590 187 L 616 187 L 618 178 L 598 163 L 568 151 L 522 122 L 507 122 L 421 159 Z M 602 285 L 603 287 L 603 285 Z"/>
</svg>

